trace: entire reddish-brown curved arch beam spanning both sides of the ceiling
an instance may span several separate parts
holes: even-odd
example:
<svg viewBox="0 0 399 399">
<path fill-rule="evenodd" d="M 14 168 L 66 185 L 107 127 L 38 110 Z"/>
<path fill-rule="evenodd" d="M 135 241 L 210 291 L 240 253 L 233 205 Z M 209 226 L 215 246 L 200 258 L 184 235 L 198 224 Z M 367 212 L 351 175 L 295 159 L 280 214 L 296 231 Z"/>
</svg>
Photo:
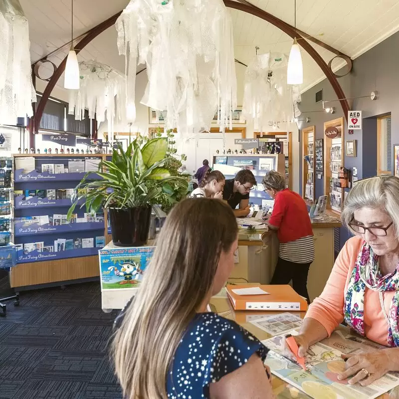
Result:
<svg viewBox="0 0 399 399">
<path fill-rule="evenodd" d="M 293 26 L 291 26 L 290 24 L 275 17 L 272 14 L 269 14 L 268 12 L 266 12 L 260 8 L 257 8 L 253 5 L 239 3 L 239 2 L 233 1 L 233 0 L 223 0 L 223 2 L 226 5 L 226 7 L 237 9 L 237 10 L 243 11 L 243 12 L 247 12 L 248 14 L 252 14 L 254 16 L 257 16 L 258 18 L 261 18 L 261 19 L 271 23 L 272 25 L 281 29 L 288 36 L 291 36 L 292 38 L 300 37 L 300 35 L 298 34 L 297 31 L 295 31 L 295 28 Z M 76 46 L 75 46 L 76 53 L 79 53 L 87 44 L 89 44 L 95 37 L 97 37 L 104 30 L 106 30 L 109 27 L 111 27 L 112 25 L 114 25 L 121 13 L 122 13 L 122 11 L 116 13 L 115 15 L 111 16 L 107 20 L 101 22 L 95 28 L 91 29 L 88 32 L 88 34 L 82 40 L 80 40 L 78 42 L 78 44 L 76 44 Z M 319 65 L 321 70 L 326 75 L 331 86 L 333 87 L 334 92 L 337 95 L 337 97 L 345 98 L 345 93 L 342 90 L 341 85 L 338 83 L 338 80 L 335 77 L 333 71 L 328 67 L 328 65 L 326 64 L 324 59 L 320 56 L 320 54 L 305 39 L 300 40 L 299 44 L 315 60 L 317 65 Z M 58 68 L 54 72 L 50 81 L 47 83 L 47 86 L 43 92 L 43 95 L 42 95 L 38 105 L 37 105 L 37 108 L 36 108 L 36 111 L 35 111 L 35 114 L 33 117 L 33 124 L 32 124 L 33 125 L 33 133 L 37 133 L 37 131 L 38 131 L 40 120 L 43 115 L 43 111 L 44 111 L 46 102 L 47 102 L 55 84 L 58 82 L 58 79 L 61 77 L 62 73 L 64 72 L 65 64 L 66 64 L 66 57 L 58 65 Z M 344 112 L 345 119 L 348 122 L 348 111 L 349 111 L 348 101 L 340 100 L 340 104 L 341 104 L 342 110 Z"/>
</svg>

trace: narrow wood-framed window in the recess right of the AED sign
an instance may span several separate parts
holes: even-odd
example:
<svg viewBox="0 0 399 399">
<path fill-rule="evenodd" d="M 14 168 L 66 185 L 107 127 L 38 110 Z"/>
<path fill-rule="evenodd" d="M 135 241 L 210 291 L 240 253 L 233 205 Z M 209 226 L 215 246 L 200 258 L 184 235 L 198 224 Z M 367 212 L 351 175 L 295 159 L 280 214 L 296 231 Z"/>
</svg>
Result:
<svg viewBox="0 0 399 399">
<path fill-rule="evenodd" d="M 392 174 L 391 115 L 377 120 L 377 174 Z"/>
</svg>

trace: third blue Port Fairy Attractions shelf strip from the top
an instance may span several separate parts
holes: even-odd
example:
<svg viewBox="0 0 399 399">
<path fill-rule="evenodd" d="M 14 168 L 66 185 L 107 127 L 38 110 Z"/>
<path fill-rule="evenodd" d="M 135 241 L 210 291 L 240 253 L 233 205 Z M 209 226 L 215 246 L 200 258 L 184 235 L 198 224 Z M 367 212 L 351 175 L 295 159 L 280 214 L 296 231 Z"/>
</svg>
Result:
<svg viewBox="0 0 399 399">
<path fill-rule="evenodd" d="M 104 222 L 87 222 L 87 223 L 70 223 L 62 224 L 60 226 L 53 226 L 45 224 L 40 226 L 37 223 L 23 226 L 22 222 L 14 223 L 14 235 L 20 237 L 23 235 L 31 234 L 60 234 L 60 233 L 73 233 L 76 231 L 89 231 L 89 230 L 103 230 Z"/>
</svg>

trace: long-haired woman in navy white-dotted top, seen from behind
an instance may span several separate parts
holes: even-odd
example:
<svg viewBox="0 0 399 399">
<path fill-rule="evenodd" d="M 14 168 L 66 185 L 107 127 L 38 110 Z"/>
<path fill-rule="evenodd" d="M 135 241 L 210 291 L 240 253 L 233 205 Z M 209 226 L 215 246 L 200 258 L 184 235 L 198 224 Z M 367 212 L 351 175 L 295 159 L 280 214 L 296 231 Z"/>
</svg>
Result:
<svg viewBox="0 0 399 399">
<path fill-rule="evenodd" d="M 125 399 L 273 398 L 268 349 L 206 311 L 234 267 L 237 232 L 221 200 L 183 200 L 168 215 L 142 284 L 115 321 Z"/>
</svg>

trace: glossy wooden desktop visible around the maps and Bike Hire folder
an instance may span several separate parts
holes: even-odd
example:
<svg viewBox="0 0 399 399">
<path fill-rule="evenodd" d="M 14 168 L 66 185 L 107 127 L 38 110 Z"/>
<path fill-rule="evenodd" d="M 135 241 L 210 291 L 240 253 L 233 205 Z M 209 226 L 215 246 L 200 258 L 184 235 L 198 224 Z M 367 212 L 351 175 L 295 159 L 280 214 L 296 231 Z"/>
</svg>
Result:
<svg viewBox="0 0 399 399">
<path fill-rule="evenodd" d="M 210 308 L 214 313 L 218 313 L 220 316 L 225 317 L 226 319 L 235 320 L 240 326 L 245 328 L 245 330 L 252 333 L 256 338 L 260 341 L 271 338 L 271 335 L 266 333 L 265 331 L 257 328 L 253 324 L 248 321 L 248 316 L 261 314 L 261 312 L 247 312 L 247 311 L 234 311 L 230 306 L 230 303 L 226 297 L 212 297 L 210 300 Z M 271 312 L 263 312 L 263 314 L 270 314 Z M 274 314 L 278 314 L 279 312 L 273 312 Z M 305 312 L 297 312 L 300 317 L 305 316 Z M 272 387 L 273 393 L 277 399 L 311 399 L 310 396 L 304 394 L 303 392 L 298 391 L 295 387 L 292 387 L 285 381 L 273 376 L 272 377 Z M 397 390 L 395 390 L 395 394 L 391 396 L 385 394 L 381 396 L 379 399 L 394 399 L 399 398 Z"/>
</svg>

